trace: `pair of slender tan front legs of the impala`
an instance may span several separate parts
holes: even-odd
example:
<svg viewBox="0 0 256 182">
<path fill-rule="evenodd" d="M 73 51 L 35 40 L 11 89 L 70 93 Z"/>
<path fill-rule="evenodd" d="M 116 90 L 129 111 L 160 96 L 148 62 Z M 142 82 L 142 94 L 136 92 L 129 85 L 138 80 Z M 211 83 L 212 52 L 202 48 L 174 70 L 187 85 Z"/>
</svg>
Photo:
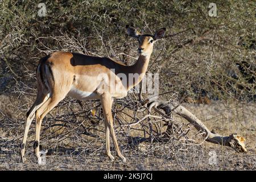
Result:
<svg viewBox="0 0 256 182">
<path fill-rule="evenodd" d="M 114 133 L 113 117 L 112 117 L 112 111 L 111 111 L 112 102 L 113 101 L 110 94 L 101 95 L 101 104 L 102 104 L 102 109 L 103 109 L 104 118 L 105 118 L 105 126 L 107 126 L 110 131 L 110 135 L 112 137 L 112 140 L 115 146 L 115 151 L 117 151 L 118 157 L 121 158 L 123 162 L 126 162 L 125 157 L 121 154 L 121 151 L 119 150 L 117 138 L 115 137 L 115 133 Z M 108 129 L 106 129 L 106 131 L 108 131 Z M 106 133 L 106 153 L 109 156 L 109 158 L 112 159 L 113 156 L 110 154 L 108 135 L 109 134 Z"/>
</svg>

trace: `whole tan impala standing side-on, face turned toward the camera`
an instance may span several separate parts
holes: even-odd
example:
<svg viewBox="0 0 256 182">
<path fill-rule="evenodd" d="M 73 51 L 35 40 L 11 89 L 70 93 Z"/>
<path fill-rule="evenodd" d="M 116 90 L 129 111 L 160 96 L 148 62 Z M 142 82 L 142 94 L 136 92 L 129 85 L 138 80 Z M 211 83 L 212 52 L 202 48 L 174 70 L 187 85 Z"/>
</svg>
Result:
<svg viewBox="0 0 256 182">
<path fill-rule="evenodd" d="M 40 127 L 43 118 L 65 96 L 71 96 L 79 100 L 100 99 L 104 111 L 106 133 L 106 155 L 114 160 L 110 153 L 109 133 L 112 137 L 117 155 L 126 161 L 121 154 L 113 129 L 112 103 L 114 98 L 122 98 L 127 95 L 129 89 L 137 85 L 148 67 L 148 61 L 152 53 L 154 41 L 164 36 L 166 28 L 160 28 L 154 35 L 139 34 L 133 27 L 127 26 L 128 35 L 139 41 L 139 57 L 134 65 L 119 64 L 106 57 L 93 57 L 72 52 L 54 52 L 40 59 L 36 77 L 38 80 L 38 93 L 36 101 L 27 112 L 24 136 L 21 144 L 21 159 L 25 162 L 25 144 L 28 129 L 32 119 L 36 116 L 35 154 L 38 163 L 42 164 L 39 154 Z M 122 79 L 118 76 L 133 76 L 133 81 Z M 130 79 L 129 79 L 130 80 Z"/>
</svg>

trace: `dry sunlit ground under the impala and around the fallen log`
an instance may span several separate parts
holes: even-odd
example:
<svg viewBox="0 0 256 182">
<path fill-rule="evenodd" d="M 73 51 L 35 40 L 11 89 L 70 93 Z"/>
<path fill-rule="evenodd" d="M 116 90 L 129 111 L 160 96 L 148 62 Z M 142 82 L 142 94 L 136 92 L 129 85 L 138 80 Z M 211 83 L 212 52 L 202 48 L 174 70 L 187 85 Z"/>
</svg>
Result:
<svg viewBox="0 0 256 182">
<path fill-rule="evenodd" d="M 32 140 L 27 143 L 27 163 L 19 162 L 20 140 L 8 142 L 9 137 L 0 141 L 0 170 L 255 170 L 255 104 L 230 104 L 213 101 L 209 105 L 184 104 L 188 110 L 195 113 L 205 125 L 217 133 L 229 135 L 238 133 L 245 137 L 247 153 L 237 153 L 230 147 L 203 142 L 197 145 L 179 148 L 173 147 L 173 142 L 153 143 L 143 142 L 139 146 L 127 144 L 127 140 L 119 137 L 119 144 L 127 162 L 115 159 L 111 162 L 104 154 L 104 137 L 92 140 L 84 146 L 68 147 L 67 143 L 55 143 L 47 147 L 42 140 L 43 148 L 48 149 L 45 166 L 36 164 L 33 154 Z M 180 122 L 182 118 L 175 117 Z M 32 126 L 33 127 L 33 126 Z M 3 130 L 3 129 L 1 129 Z M 117 134 L 117 136 L 119 136 Z M 112 151 L 114 148 L 112 146 Z M 113 155 L 114 152 L 112 152 Z"/>
</svg>

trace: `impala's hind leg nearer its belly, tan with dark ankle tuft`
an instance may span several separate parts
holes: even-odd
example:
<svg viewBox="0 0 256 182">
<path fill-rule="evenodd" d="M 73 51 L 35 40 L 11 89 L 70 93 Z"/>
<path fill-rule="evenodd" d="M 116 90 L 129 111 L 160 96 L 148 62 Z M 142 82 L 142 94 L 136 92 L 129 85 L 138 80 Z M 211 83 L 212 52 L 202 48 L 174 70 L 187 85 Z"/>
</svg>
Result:
<svg viewBox="0 0 256 182">
<path fill-rule="evenodd" d="M 64 96 L 65 97 L 65 96 Z M 38 110 L 36 110 L 36 131 L 35 131 L 35 142 L 34 150 L 35 155 L 38 158 L 38 164 L 42 164 L 42 158 L 39 151 L 39 140 L 40 140 L 40 129 L 42 126 L 43 118 L 46 116 L 49 111 L 53 109 L 64 97 L 52 96 L 49 98 Z"/>
</svg>

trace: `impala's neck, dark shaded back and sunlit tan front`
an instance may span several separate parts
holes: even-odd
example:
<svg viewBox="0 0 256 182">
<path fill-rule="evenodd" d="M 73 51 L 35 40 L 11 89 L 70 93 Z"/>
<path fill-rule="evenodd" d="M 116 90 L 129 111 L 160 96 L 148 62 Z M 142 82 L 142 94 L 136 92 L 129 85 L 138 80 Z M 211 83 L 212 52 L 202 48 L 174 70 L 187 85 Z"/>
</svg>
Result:
<svg viewBox="0 0 256 182">
<path fill-rule="evenodd" d="M 150 60 L 150 55 L 148 56 L 140 55 L 137 62 L 134 65 L 129 66 L 129 71 L 126 72 L 127 81 L 128 81 L 127 90 L 130 90 L 134 86 L 138 85 L 139 82 L 141 82 L 143 76 L 147 71 L 149 60 Z"/>
</svg>

